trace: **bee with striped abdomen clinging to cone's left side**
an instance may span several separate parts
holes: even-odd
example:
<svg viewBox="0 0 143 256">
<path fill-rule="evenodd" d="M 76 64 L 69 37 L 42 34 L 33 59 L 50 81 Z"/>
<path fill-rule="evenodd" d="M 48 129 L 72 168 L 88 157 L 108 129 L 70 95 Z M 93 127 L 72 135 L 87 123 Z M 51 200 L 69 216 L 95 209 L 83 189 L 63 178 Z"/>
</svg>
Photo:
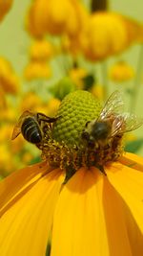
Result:
<svg viewBox="0 0 143 256">
<path fill-rule="evenodd" d="M 38 145 L 42 142 L 44 129 L 51 128 L 51 123 L 55 122 L 57 118 L 51 118 L 43 113 L 32 113 L 26 110 L 22 113 L 13 128 L 11 139 L 15 139 L 22 133 L 28 142 Z"/>
</svg>

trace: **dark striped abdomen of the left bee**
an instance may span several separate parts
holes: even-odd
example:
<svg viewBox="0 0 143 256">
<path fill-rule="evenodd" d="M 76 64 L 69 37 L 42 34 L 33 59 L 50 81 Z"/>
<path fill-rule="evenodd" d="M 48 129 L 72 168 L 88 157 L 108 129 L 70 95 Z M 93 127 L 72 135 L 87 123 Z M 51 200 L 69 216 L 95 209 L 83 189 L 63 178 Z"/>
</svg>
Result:
<svg viewBox="0 0 143 256">
<path fill-rule="evenodd" d="M 21 132 L 24 138 L 33 144 L 40 143 L 42 140 L 41 130 L 35 120 L 31 117 L 23 122 Z"/>
</svg>

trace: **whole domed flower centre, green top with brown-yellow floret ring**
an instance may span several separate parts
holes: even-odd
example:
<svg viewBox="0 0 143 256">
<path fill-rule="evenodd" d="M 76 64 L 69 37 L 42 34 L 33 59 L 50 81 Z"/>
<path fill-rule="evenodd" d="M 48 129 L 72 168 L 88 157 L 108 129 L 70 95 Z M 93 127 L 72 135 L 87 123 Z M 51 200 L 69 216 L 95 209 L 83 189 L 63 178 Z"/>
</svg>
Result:
<svg viewBox="0 0 143 256">
<path fill-rule="evenodd" d="M 122 135 L 107 136 L 112 125 L 107 121 L 96 123 L 101 110 L 90 92 L 77 90 L 65 97 L 57 112 L 58 119 L 52 128 L 45 129 L 39 147 L 42 157 L 51 166 L 66 171 L 65 181 L 80 167 L 95 166 L 104 173 L 104 166 L 122 154 Z M 89 122 L 93 122 L 90 131 Z"/>
</svg>

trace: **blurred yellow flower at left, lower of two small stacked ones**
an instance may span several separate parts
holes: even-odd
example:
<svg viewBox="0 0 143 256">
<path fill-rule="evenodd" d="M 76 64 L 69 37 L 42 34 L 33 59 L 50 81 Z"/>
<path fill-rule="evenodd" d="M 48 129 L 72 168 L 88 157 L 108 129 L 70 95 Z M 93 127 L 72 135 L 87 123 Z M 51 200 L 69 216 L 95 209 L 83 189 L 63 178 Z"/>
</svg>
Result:
<svg viewBox="0 0 143 256">
<path fill-rule="evenodd" d="M 45 61 L 31 61 L 24 70 L 24 78 L 28 81 L 50 77 L 51 67 Z"/>
</svg>

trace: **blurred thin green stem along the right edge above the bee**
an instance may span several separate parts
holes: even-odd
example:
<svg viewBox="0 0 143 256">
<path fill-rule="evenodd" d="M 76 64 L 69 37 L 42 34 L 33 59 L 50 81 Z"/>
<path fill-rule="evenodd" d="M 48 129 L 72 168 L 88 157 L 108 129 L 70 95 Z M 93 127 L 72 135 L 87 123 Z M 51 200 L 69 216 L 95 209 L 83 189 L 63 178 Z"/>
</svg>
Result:
<svg viewBox="0 0 143 256">
<path fill-rule="evenodd" d="M 140 46 L 140 51 L 138 54 L 136 75 L 133 81 L 133 91 L 132 91 L 132 99 L 131 99 L 131 112 L 134 112 L 136 104 L 137 104 L 137 96 L 139 92 L 139 85 L 141 82 L 143 71 L 143 45 Z"/>
</svg>

